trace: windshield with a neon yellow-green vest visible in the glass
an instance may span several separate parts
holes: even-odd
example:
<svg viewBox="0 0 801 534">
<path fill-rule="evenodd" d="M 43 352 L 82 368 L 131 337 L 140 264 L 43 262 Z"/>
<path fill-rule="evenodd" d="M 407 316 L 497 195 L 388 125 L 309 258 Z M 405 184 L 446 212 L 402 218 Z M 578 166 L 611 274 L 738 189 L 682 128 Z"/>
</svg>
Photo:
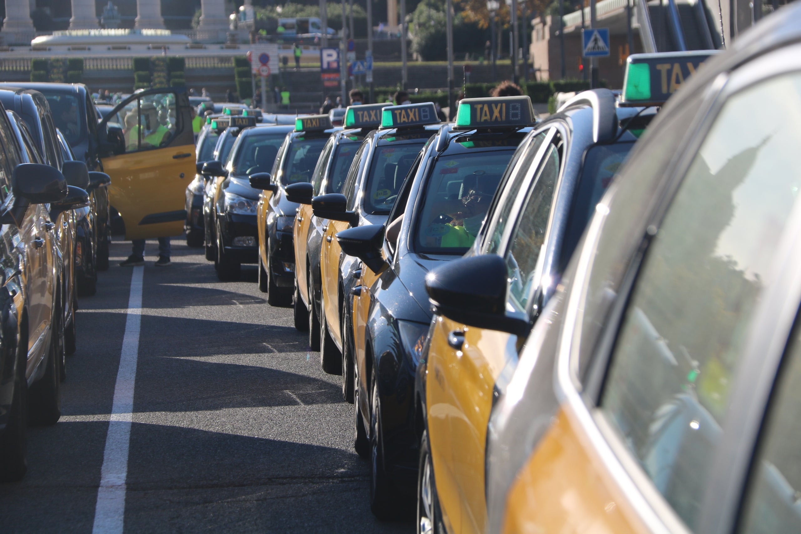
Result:
<svg viewBox="0 0 801 534">
<path fill-rule="evenodd" d="M 476 240 L 489 203 L 514 151 L 445 155 L 425 184 L 415 248 L 434 254 L 464 254 Z"/>
</svg>

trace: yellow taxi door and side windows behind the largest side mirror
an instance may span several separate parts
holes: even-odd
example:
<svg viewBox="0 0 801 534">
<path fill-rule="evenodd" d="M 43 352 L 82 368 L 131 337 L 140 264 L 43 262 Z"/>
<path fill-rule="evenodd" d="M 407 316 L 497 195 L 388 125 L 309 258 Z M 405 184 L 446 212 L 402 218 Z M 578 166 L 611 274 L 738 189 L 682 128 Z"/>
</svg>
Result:
<svg viewBox="0 0 801 534">
<path fill-rule="evenodd" d="M 511 280 L 507 310 L 530 318 L 530 284 L 517 281 L 531 278 L 545 239 L 562 169 L 561 136 L 550 128 L 537 134 L 526 150 L 502 191 L 483 251 L 505 257 Z M 458 532 L 485 531 L 487 422 L 496 380 L 501 373 L 511 374 L 523 341 L 445 317 L 435 323 L 428 360 L 434 379 L 426 386 L 429 435 L 439 499 Z"/>
</svg>

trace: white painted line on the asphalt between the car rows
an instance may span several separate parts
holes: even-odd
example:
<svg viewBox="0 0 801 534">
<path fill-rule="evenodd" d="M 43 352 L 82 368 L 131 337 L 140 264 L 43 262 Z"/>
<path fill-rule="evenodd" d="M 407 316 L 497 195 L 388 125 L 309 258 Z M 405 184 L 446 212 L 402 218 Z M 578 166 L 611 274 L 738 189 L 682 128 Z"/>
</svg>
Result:
<svg viewBox="0 0 801 534">
<path fill-rule="evenodd" d="M 134 411 L 136 359 L 139 355 L 139 327 L 142 323 L 142 277 L 144 267 L 134 267 L 128 298 L 123 351 L 114 387 L 114 404 L 103 452 L 100 487 L 95 506 L 93 534 L 121 534 L 125 518 L 125 484 L 128 475 L 128 445 L 131 441 L 131 413 Z"/>
</svg>

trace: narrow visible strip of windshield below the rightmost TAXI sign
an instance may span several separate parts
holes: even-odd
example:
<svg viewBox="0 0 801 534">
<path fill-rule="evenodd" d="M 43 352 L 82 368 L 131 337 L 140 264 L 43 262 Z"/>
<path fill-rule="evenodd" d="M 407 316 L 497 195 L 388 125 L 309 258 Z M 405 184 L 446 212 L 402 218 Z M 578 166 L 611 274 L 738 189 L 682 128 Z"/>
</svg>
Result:
<svg viewBox="0 0 801 534">
<path fill-rule="evenodd" d="M 582 177 L 576 188 L 570 217 L 567 219 L 565 247 L 559 268 L 564 270 L 573 249 L 581 239 L 587 221 L 592 217 L 595 206 L 609 188 L 614 175 L 634 147 L 634 143 L 615 143 L 614 145 L 595 145 L 584 156 Z"/>
</svg>

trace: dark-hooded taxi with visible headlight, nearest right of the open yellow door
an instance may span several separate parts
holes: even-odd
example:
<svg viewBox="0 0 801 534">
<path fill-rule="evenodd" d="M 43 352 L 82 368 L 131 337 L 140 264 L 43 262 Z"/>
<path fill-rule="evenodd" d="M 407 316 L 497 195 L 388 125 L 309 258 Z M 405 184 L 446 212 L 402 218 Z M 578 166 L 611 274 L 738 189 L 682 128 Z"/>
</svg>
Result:
<svg viewBox="0 0 801 534">
<path fill-rule="evenodd" d="M 250 126 L 245 126 L 248 123 Z M 256 126 L 253 116 L 231 117 L 231 127 L 242 130 L 212 201 L 211 221 L 217 239 L 214 266 L 221 280 L 237 279 L 242 263 L 258 262 L 256 204 L 261 190 L 252 187 L 250 179 L 267 177 L 284 139 L 292 131 L 292 126 L 251 126 Z"/>
</svg>

